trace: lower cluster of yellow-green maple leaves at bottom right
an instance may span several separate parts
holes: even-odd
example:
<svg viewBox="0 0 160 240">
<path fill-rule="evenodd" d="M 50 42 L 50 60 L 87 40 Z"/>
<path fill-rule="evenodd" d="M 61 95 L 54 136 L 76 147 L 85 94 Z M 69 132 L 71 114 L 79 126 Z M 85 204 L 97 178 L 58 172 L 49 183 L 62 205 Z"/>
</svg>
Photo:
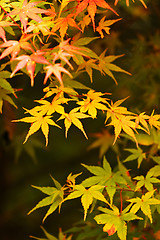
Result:
<svg viewBox="0 0 160 240">
<path fill-rule="evenodd" d="M 76 178 L 81 173 L 70 174 L 63 186 L 53 177 L 56 187 L 33 186 L 48 196 L 42 199 L 29 214 L 38 208 L 50 205 L 43 219 L 45 220 L 56 208 L 59 207 L 60 210 L 65 201 L 80 197 L 84 209 L 84 220 L 86 220 L 89 209 L 92 212 L 97 208 L 103 213 L 96 214 L 94 220 L 98 224 L 104 225 L 103 231 L 107 232 L 109 236 L 117 232 L 121 240 L 126 240 L 127 222 L 145 218 L 145 222 L 149 219 L 152 223 L 155 210 L 160 212 L 160 193 L 157 190 L 160 184 L 159 164 L 151 168 L 145 177 L 134 178 L 130 176 L 129 171 L 120 161 L 118 169 L 114 170 L 106 158 L 103 159 L 103 167 L 82 165 L 93 176 L 86 178 L 80 184 L 76 184 Z M 120 195 L 120 202 L 116 200 L 118 195 Z M 122 195 L 125 195 L 123 199 Z M 158 207 L 151 211 L 152 205 Z"/>
</svg>

